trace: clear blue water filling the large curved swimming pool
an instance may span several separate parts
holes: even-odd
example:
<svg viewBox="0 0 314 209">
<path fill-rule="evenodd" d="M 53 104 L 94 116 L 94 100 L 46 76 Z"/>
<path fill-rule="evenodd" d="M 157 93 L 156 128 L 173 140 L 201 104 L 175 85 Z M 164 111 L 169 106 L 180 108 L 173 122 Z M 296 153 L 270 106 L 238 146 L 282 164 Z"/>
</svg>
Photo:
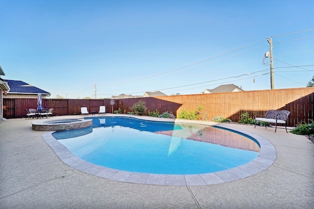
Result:
<svg viewBox="0 0 314 209">
<path fill-rule="evenodd" d="M 79 158 L 118 170 L 154 174 L 201 174 L 252 161 L 259 145 L 210 126 L 130 117 L 93 117 L 93 128 L 55 132 Z"/>
</svg>

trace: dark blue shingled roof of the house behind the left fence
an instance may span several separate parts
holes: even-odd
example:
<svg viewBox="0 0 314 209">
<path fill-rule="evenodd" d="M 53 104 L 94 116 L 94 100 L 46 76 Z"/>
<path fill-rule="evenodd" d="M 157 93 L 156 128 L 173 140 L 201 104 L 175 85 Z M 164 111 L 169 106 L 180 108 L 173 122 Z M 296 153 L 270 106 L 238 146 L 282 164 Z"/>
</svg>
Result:
<svg viewBox="0 0 314 209">
<path fill-rule="evenodd" d="M 15 81 L 15 80 L 4 80 L 8 83 L 10 87 L 10 92 L 8 93 L 23 93 L 23 94 L 50 94 L 49 92 L 46 92 L 42 89 L 39 89 L 37 87 L 34 87 L 28 83 L 25 83 L 24 81 Z"/>
</svg>

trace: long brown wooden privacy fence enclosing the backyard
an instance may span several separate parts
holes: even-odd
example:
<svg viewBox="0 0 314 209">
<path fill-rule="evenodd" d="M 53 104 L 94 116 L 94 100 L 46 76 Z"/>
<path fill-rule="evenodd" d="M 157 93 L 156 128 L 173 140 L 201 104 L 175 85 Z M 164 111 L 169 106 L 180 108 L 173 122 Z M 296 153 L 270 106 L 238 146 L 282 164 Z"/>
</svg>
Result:
<svg viewBox="0 0 314 209">
<path fill-rule="evenodd" d="M 175 116 L 182 110 L 197 111 L 198 106 L 203 106 L 201 115 L 207 120 L 224 116 L 237 122 L 243 113 L 254 118 L 255 114 L 264 115 L 267 110 L 288 110 L 291 112 L 288 126 L 294 127 L 298 123 L 311 122 L 314 116 L 312 87 L 118 99 L 113 106 L 110 99 L 43 99 L 43 107 L 53 108 L 53 116 L 80 115 L 80 107 L 98 113 L 102 105 L 105 105 L 107 113 L 118 108 L 124 113 L 131 112 L 130 107 L 139 100 L 143 100 L 151 112 L 157 110 L 161 114 L 169 111 Z M 37 108 L 37 99 L 3 98 L 4 118 L 25 117 L 24 108 Z"/>
</svg>

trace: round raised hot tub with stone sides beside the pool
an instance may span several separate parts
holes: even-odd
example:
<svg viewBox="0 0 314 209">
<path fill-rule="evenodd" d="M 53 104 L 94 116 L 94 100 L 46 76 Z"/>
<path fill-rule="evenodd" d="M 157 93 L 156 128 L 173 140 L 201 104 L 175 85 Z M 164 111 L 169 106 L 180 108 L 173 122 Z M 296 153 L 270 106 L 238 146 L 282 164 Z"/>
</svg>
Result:
<svg viewBox="0 0 314 209">
<path fill-rule="evenodd" d="M 93 121 L 83 118 L 62 118 L 35 120 L 31 124 L 35 131 L 66 131 L 90 127 Z"/>
</svg>

